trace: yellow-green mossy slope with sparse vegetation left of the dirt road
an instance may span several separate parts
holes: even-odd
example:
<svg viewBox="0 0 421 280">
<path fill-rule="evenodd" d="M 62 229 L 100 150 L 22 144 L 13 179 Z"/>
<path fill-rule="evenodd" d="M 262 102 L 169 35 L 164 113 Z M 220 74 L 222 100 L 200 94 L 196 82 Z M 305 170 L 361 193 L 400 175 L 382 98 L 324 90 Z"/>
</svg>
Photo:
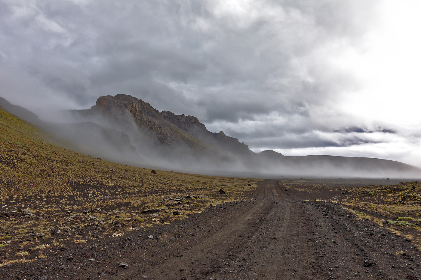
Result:
<svg viewBox="0 0 421 280">
<path fill-rule="evenodd" d="M 77 244 L 96 236 L 120 236 L 116 234 L 185 218 L 209 204 L 245 199 L 263 181 L 160 170 L 151 174 L 150 169 L 99 160 L 1 110 L 0 128 L 0 215 L 11 213 L 0 217 L 0 240 L 8 241 L 2 247 L 20 244 L 25 250 L 44 251 L 58 246 L 46 244 L 49 238 L 70 238 Z M 219 194 L 221 187 L 226 194 Z M 159 216 L 148 209 L 159 209 Z M 85 239 L 77 234 L 82 228 L 89 228 Z M 32 241 L 23 243 L 26 239 Z M 13 261 L 12 255 L 0 266 L 6 260 Z"/>
</svg>

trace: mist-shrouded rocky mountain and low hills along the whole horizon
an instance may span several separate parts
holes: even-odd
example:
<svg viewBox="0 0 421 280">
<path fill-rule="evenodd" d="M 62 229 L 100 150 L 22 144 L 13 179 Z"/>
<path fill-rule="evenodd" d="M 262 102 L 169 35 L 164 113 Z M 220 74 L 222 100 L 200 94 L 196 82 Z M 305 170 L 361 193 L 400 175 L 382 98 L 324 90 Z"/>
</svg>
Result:
<svg viewBox="0 0 421 280">
<path fill-rule="evenodd" d="M 253 178 L 418 178 L 402 162 L 330 155 L 255 153 L 245 143 L 213 133 L 194 117 L 159 112 L 125 94 L 99 97 L 87 110 L 64 110 L 43 122 L 2 99 L 5 110 L 63 137 L 94 157 L 128 165 L 188 173 Z"/>
</svg>

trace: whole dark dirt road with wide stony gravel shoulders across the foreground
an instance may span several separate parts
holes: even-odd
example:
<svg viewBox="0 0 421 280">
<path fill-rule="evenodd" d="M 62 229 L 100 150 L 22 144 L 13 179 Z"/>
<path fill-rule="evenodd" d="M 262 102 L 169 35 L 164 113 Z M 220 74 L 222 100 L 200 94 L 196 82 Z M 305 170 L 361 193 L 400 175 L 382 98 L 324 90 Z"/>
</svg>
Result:
<svg viewBox="0 0 421 280">
<path fill-rule="evenodd" d="M 419 279 L 420 251 L 339 204 L 301 201 L 266 181 L 255 199 L 177 225 L 64 248 L 3 267 L 5 279 Z M 119 267 L 125 262 L 128 268 Z M 17 277 L 17 278 L 16 278 Z"/>
</svg>

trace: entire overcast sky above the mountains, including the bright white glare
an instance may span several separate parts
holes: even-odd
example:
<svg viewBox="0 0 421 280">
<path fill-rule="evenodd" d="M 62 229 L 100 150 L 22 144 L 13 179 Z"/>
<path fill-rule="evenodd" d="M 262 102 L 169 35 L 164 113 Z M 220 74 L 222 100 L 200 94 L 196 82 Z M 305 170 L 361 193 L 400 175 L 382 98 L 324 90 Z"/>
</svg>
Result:
<svg viewBox="0 0 421 280">
<path fill-rule="evenodd" d="M 0 0 L 0 96 L 130 94 L 255 152 L 421 166 L 421 2 Z"/>
</svg>

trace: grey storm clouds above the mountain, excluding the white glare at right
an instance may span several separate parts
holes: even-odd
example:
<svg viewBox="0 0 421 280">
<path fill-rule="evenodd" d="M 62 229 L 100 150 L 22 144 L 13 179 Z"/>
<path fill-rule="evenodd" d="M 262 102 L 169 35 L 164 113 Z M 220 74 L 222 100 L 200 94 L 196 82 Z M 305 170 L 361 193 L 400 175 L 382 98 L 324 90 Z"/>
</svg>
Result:
<svg viewBox="0 0 421 280">
<path fill-rule="evenodd" d="M 0 81 L 27 83 L 1 95 L 41 113 L 130 94 L 255 149 L 376 143 L 397 130 L 315 112 L 360 86 L 327 58 L 362 44 L 377 4 L 0 0 Z"/>
</svg>

